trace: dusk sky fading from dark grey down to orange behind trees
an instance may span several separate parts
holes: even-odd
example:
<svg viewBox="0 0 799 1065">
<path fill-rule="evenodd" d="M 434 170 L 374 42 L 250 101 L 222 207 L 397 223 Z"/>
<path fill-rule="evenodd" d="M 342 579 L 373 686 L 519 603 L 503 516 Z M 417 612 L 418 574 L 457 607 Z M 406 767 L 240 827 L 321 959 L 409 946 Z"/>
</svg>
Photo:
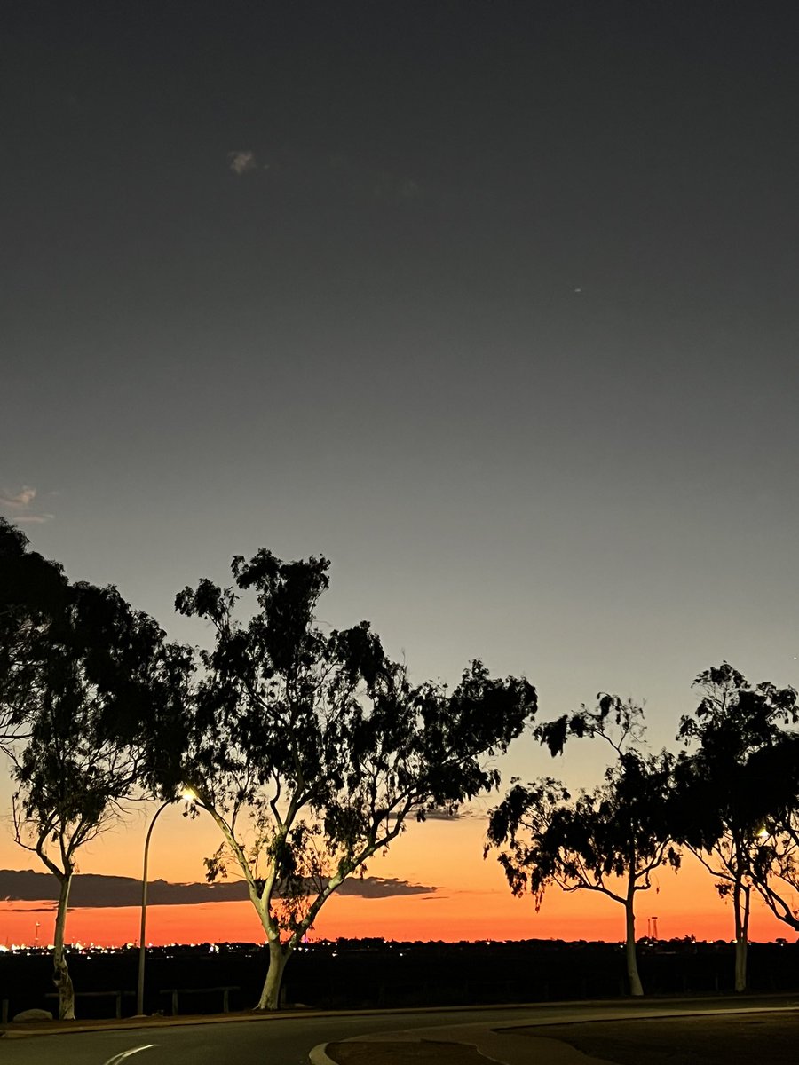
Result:
<svg viewBox="0 0 799 1065">
<path fill-rule="evenodd" d="M 541 719 L 632 695 L 653 750 L 722 659 L 799 684 L 798 30 L 782 0 L 3 4 L 0 513 L 191 642 L 185 585 L 322 554 L 321 621 L 412 679 L 480 657 Z M 426 902 L 326 930 L 621 936 L 510 899 L 491 801 L 370 868 Z M 136 875 L 145 826 L 84 871 Z M 211 826 L 157 833 L 153 876 L 201 880 Z M 0 866 L 33 868 L 7 833 Z M 732 923 L 705 879 L 664 873 L 669 934 Z"/>
</svg>

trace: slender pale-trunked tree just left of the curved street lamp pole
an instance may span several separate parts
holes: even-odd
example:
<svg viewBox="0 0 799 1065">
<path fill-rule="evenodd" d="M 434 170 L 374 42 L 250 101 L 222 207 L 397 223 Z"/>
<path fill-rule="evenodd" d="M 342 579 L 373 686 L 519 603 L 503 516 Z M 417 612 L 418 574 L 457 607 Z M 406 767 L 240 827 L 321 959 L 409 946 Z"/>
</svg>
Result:
<svg viewBox="0 0 799 1065">
<path fill-rule="evenodd" d="M 21 609 L 21 607 L 20 607 Z M 29 627 L 21 674 L 31 688 L 18 708 L 26 738 L 12 748 L 17 842 L 60 884 L 53 946 L 59 1017 L 75 1018 L 65 951 L 78 852 L 110 826 L 126 799 L 144 793 L 151 752 L 174 720 L 180 649 L 114 588 L 69 586 L 49 616 Z M 15 694 L 16 698 L 16 694 Z"/>
</svg>

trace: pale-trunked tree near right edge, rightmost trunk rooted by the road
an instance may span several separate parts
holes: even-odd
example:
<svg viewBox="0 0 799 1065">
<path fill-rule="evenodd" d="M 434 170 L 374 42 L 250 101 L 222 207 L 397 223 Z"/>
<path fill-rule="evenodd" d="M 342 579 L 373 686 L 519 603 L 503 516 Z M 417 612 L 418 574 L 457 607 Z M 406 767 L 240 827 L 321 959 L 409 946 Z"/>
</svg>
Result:
<svg viewBox="0 0 799 1065">
<path fill-rule="evenodd" d="M 675 770 L 674 831 L 732 901 L 735 990 L 743 992 L 753 890 L 778 916 L 789 912 L 773 878 L 790 883 L 795 867 L 796 746 L 785 726 L 799 718 L 797 693 L 753 687 L 729 662 L 700 673 L 694 686 L 703 698 L 678 734 L 687 750 Z"/>
</svg>

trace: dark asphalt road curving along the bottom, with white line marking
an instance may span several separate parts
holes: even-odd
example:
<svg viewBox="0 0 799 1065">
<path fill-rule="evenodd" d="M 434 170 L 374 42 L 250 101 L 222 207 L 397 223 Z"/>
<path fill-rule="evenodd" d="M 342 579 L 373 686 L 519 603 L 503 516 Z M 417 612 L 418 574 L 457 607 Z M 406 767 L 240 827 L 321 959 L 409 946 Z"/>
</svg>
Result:
<svg viewBox="0 0 799 1065">
<path fill-rule="evenodd" d="M 397 1011 L 393 1013 L 328 1014 L 251 1017 L 211 1023 L 149 1023 L 119 1031 L 72 1032 L 3 1038 L 3 1065 L 104 1065 L 111 1059 L 146 1047 L 119 1060 L 119 1065 L 308 1065 L 308 1052 L 317 1043 L 331 1043 L 373 1032 L 452 1025 L 541 1025 L 623 1019 L 687 1012 L 741 1009 L 740 999 L 646 1002 L 538 1004 L 529 1006 L 472 1006 L 460 1010 Z M 790 1005 L 795 1006 L 795 999 Z M 754 1009 L 783 1007 L 785 998 L 754 1000 Z M 117 1063 L 114 1063 L 117 1065 Z"/>
</svg>

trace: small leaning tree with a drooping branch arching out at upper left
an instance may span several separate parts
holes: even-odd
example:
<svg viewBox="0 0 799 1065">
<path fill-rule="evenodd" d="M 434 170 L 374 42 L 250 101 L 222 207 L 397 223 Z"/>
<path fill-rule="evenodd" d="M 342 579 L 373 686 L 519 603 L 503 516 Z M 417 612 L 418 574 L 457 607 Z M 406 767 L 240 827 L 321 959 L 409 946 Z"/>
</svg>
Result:
<svg viewBox="0 0 799 1065">
<path fill-rule="evenodd" d="M 505 800 L 489 815 L 484 855 L 500 850 L 498 861 L 513 895 L 529 890 L 536 910 L 548 887 L 589 890 L 624 907 L 624 954 L 632 995 L 643 994 L 635 949 L 635 901 L 652 887 L 659 866 L 676 868 L 667 807 L 673 759 L 666 751 L 646 755 L 638 744 L 640 707 L 618 695 L 600 694 L 596 710 L 582 706 L 571 717 L 535 730 L 553 755 L 567 737 L 599 736 L 615 751 L 604 782 L 575 799 L 558 781 L 540 777 L 513 782 Z"/>
</svg>

